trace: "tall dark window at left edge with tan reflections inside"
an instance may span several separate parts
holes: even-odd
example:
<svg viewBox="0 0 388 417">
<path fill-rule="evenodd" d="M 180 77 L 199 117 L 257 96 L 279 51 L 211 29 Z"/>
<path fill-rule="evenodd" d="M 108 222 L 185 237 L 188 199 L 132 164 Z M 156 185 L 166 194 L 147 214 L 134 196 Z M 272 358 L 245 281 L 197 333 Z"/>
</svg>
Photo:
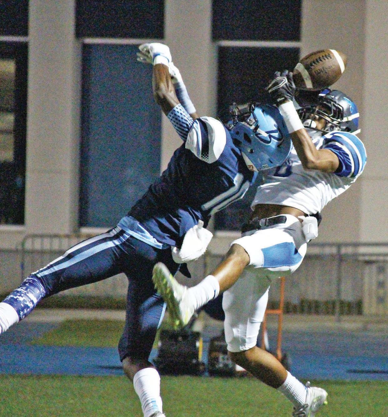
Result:
<svg viewBox="0 0 388 417">
<path fill-rule="evenodd" d="M 24 223 L 27 44 L 0 43 L 0 224 Z"/>
</svg>

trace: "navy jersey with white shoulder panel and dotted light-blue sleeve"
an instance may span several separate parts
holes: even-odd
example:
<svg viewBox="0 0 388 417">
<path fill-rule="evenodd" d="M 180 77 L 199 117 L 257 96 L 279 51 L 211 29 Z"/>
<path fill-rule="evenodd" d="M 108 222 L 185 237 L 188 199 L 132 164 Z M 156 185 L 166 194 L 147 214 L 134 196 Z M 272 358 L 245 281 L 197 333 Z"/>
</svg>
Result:
<svg viewBox="0 0 388 417">
<path fill-rule="evenodd" d="M 199 220 L 206 227 L 211 214 L 242 198 L 255 173 L 220 121 L 193 121 L 181 105 L 168 117 L 184 143 L 128 214 L 157 241 L 181 246 Z"/>
</svg>

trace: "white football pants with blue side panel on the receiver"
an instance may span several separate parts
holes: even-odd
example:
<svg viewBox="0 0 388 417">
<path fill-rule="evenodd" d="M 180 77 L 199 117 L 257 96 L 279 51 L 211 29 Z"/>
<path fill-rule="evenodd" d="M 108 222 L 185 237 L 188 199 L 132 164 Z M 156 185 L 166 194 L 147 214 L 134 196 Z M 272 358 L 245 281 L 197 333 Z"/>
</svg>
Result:
<svg viewBox="0 0 388 417">
<path fill-rule="evenodd" d="M 284 224 L 268 226 L 232 242 L 242 246 L 250 262 L 238 281 L 224 292 L 225 340 L 230 352 L 256 346 L 273 278 L 294 272 L 307 249 L 302 223 L 285 215 Z"/>
</svg>

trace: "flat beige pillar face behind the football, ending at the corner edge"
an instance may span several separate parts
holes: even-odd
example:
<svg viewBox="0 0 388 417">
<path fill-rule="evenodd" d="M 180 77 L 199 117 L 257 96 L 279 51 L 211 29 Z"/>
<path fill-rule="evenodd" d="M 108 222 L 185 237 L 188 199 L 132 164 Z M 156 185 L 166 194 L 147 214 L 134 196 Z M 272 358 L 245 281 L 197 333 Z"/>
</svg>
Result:
<svg viewBox="0 0 388 417">
<path fill-rule="evenodd" d="M 364 0 L 328 0 L 324 2 L 306 0 L 303 2 L 301 55 L 304 56 L 310 51 L 321 48 L 336 49 L 347 55 L 348 63 L 345 72 L 333 85 L 333 88 L 344 91 L 358 105 L 360 138 L 363 141 L 369 137 L 365 132 L 366 120 L 363 112 L 364 22 Z M 365 140 L 367 151 L 368 143 L 369 141 Z M 365 175 L 371 165 L 370 160 L 369 157 L 365 172 L 357 182 L 324 208 L 322 226 L 317 241 L 350 242 L 360 240 L 360 203 L 363 181 L 365 181 Z"/>
</svg>

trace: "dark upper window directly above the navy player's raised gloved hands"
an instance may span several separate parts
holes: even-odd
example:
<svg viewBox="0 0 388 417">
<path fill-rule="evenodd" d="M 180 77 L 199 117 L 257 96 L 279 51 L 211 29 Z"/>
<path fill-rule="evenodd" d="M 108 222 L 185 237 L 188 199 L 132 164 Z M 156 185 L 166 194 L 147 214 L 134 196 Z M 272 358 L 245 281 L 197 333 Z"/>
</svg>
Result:
<svg viewBox="0 0 388 417">
<path fill-rule="evenodd" d="M 77 0 L 78 38 L 164 37 L 163 0 Z"/>
</svg>

